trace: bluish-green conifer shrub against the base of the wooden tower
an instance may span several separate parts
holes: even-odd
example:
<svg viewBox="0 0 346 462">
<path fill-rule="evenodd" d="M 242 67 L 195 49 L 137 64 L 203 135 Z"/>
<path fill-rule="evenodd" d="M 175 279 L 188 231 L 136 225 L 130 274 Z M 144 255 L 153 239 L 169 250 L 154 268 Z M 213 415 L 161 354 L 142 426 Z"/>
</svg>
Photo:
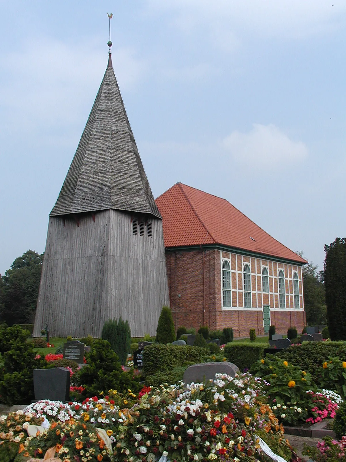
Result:
<svg viewBox="0 0 346 462">
<path fill-rule="evenodd" d="M 131 329 L 128 321 L 124 321 L 121 316 L 119 320 L 109 319 L 103 325 L 101 338 L 109 341 L 113 351 L 117 353 L 120 363 L 125 365 L 127 353 L 131 349 Z"/>
</svg>

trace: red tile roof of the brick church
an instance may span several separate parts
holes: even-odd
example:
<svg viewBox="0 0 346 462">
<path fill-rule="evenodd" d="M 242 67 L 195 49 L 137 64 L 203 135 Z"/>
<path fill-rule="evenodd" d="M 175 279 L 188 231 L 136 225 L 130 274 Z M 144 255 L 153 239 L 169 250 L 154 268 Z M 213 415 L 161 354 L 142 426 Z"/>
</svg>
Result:
<svg viewBox="0 0 346 462">
<path fill-rule="evenodd" d="M 165 247 L 221 244 L 306 263 L 226 199 L 176 183 L 155 202 L 163 218 Z"/>
</svg>

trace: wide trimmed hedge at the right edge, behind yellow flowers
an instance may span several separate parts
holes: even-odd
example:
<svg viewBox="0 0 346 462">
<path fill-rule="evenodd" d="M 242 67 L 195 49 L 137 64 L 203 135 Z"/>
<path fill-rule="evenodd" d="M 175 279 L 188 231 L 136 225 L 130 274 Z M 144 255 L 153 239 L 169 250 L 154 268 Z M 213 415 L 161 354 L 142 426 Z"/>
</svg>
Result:
<svg viewBox="0 0 346 462">
<path fill-rule="evenodd" d="M 276 353 L 276 356 L 285 359 L 302 371 L 310 372 L 314 382 L 319 383 L 321 378 L 320 367 L 329 356 L 340 356 L 346 361 L 346 342 L 304 342 L 302 345 L 293 345 L 286 350 Z"/>
</svg>

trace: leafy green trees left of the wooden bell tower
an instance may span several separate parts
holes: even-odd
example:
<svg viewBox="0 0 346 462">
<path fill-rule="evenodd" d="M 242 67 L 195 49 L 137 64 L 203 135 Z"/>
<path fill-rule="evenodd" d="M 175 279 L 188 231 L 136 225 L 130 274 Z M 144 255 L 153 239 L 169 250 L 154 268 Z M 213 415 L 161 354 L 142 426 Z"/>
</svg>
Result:
<svg viewBox="0 0 346 462">
<path fill-rule="evenodd" d="M 43 254 L 28 250 L 16 258 L 0 282 L 0 321 L 33 322 L 40 287 Z"/>
</svg>

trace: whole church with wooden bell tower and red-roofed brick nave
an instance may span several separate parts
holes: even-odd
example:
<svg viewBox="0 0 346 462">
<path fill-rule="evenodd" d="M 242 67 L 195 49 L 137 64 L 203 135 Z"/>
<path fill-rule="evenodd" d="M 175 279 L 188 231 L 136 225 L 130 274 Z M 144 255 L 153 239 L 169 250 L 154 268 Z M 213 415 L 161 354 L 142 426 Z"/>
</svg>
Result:
<svg viewBox="0 0 346 462">
<path fill-rule="evenodd" d="M 225 199 L 177 183 L 154 200 L 109 49 L 49 215 L 34 336 L 98 337 L 120 316 L 155 335 L 163 305 L 176 328 L 301 331 L 305 263 Z"/>
</svg>

